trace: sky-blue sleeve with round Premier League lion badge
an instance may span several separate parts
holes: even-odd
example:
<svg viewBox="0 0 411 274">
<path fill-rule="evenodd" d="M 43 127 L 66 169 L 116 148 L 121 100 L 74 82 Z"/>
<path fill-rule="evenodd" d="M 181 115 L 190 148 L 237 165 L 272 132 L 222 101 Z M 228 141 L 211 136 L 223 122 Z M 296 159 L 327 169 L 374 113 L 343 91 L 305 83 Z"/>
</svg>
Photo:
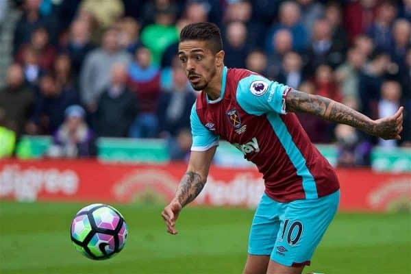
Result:
<svg viewBox="0 0 411 274">
<path fill-rule="evenodd" d="M 286 114 L 286 95 L 290 88 L 260 75 L 249 75 L 238 82 L 236 98 L 248 114 L 267 112 Z"/>
</svg>

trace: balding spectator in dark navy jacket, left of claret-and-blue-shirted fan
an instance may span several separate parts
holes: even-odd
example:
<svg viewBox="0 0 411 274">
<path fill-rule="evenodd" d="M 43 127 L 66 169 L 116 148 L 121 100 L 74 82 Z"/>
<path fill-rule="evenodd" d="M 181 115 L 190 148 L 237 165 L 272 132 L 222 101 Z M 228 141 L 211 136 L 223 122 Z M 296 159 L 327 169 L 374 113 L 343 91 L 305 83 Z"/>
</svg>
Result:
<svg viewBox="0 0 411 274">
<path fill-rule="evenodd" d="M 138 101 L 127 88 L 127 67 L 114 64 L 110 86 L 104 90 L 97 106 L 97 134 L 105 137 L 127 137 L 138 114 Z"/>
</svg>

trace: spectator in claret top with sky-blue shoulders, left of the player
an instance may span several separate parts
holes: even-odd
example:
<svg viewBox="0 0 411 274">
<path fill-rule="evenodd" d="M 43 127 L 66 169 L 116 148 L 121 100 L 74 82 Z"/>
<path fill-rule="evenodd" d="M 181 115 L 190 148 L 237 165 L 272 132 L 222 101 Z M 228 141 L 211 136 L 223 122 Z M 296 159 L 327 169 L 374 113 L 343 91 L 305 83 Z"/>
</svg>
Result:
<svg viewBox="0 0 411 274">
<path fill-rule="evenodd" d="M 151 61 L 146 47 L 136 51 L 129 66 L 129 86 L 140 102 L 140 115 L 130 129 L 132 138 L 153 138 L 158 134 L 158 117 L 155 115 L 160 95 L 160 69 Z"/>
</svg>

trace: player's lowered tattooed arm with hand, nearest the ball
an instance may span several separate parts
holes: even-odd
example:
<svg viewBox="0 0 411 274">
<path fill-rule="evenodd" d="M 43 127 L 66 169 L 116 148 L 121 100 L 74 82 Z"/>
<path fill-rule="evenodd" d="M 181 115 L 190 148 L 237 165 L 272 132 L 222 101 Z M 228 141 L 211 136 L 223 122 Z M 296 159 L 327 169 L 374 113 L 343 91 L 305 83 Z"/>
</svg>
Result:
<svg viewBox="0 0 411 274">
<path fill-rule="evenodd" d="M 188 169 L 177 187 L 175 197 L 162 211 L 162 218 L 170 234 L 177 234 L 174 225 L 179 212 L 200 194 L 206 184 L 208 170 L 215 152 L 216 147 L 207 151 L 191 151 Z"/>
</svg>

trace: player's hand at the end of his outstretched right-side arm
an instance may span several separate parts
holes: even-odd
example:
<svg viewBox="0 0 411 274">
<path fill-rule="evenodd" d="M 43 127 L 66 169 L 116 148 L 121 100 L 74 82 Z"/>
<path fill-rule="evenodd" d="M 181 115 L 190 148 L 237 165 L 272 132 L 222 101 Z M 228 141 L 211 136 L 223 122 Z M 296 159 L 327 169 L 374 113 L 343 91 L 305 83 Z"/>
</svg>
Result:
<svg viewBox="0 0 411 274">
<path fill-rule="evenodd" d="M 375 120 L 373 135 L 381 137 L 384 140 L 401 140 L 399 134 L 401 134 L 403 129 L 403 109 L 404 108 L 401 107 L 394 115 Z"/>
</svg>

